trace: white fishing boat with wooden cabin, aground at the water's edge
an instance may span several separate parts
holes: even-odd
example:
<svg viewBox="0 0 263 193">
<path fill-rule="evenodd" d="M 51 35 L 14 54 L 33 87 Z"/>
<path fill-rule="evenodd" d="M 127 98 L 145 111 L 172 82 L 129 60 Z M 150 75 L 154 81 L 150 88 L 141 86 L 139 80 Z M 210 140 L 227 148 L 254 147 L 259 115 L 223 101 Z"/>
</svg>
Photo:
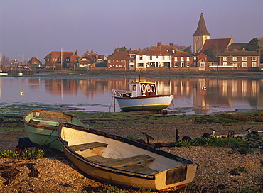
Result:
<svg viewBox="0 0 263 193">
<path fill-rule="evenodd" d="M 113 89 L 113 96 L 122 111 L 161 111 L 173 100 L 173 95 L 159 95 L 154 82 L 129 83 L 129 91 Z"/>
</svg>

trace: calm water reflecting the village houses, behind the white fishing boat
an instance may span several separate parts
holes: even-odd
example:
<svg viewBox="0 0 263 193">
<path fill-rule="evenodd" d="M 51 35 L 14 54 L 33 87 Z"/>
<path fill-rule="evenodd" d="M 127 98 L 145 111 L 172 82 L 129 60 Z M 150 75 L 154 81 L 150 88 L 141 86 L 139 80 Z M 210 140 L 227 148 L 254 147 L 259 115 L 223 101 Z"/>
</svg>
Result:
<svg viewBox="0 0 263 193">
<path fill-rule="evenodd" d="M 132 80 L 0 77 L 1 109 L 6 104 L 67 104 L 87 111 L 119 112 L 112 89 L 127 90 L 127 83 Z M 156 82 L 159 94 L 173 94 L 173 102 L 167 108 L 169 114 L 217 114 L 263 108 L 263 79 L 155 77 L 147 80 Z"/>
</svg>

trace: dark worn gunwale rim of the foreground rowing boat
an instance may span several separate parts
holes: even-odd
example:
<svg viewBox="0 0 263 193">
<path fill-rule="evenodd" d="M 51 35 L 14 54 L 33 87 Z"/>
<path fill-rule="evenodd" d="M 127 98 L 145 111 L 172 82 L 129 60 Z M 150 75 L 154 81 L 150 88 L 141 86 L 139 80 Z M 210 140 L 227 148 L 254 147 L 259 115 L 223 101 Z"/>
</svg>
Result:
<svg viewBox="0 0 263 193">
<path fill-rule="evenodd" d="M 98 131 L 98 130 L 96 130 L 94 128 L 86 128 L 86 127 L 82 127 L 82 126 L 75 126 L 75 125 L 70 124 L 70 123 L 60 123 L 59 126 L 58 126 L 58 131 L 57 132 L 58 132 L 58 140 L 60 141 L 60 143 L 63 146 L 63 148 L 68 153 L 70 153 L 70 155 L 72 155 L 74 158 L 77 158 L 78 160 L 80 160 L 82 162 L 85 162 L 85 164 L 87 164 L 87 165 L 91 165 L 92 167 L 98 167 L 98 168 L 100 168 L 102 170 L 107 170 L 107 171 L 119 173 L 119 174 L 122 174 L 122 175 L 128 175 L 128 176 L 134 176 L 134 177 L 142 177 L 142 178 L 149 179 L 149 180 L 154 180 L 155 179 L 155 175 L 158 174 L 158 172 L 157 172 L 157 173 L 154 173 L 152 175 L 146 175 L 146 174 L 143 174 L 141 172 L 132 172 L 132 171 L 128 171 L 128 170 L 122 170 L 122 169 L 119 169 L 119 168 L 116 168 L 116 167 L 110 167 L 110 166 L 103 165 L 103 164 L 100 164 L 100 163 L 95 163 L 95 162 L 92 162 L 92 161 L 88 160 L 87 158 L 82 157 L 82 155 L 76 153 L 74 150 L 72 150 L 70 147 L 68 147 L 68 145 L 65 144 L 65 141 L 61 138 L 60 134 L 61 134 L 61 129 L 62 129 L 63 126 L 68 127 L 68 128 L 72 128 L 72 129 L 76 129 L 76 130 L 79 130 L 79 131 L 85 131 L 87 133 L 92 133 L 92 134 L 95 134 L 95 135 L 98 135 L 98 136 L 102 136 L 102 137 L 105 137 L 105 138 L 111 138 L 111 139 L 114 139 L 114 140 L 118 140 L 118 141 L 120 141 L 122 143 L 127 143 L 129 145 L 134 145 L 134 146 L 136 146 L 138 148 L 142 148 L 144 150 L 149 150 L 152 153 L 156 153 L 156 154 L 162 155 L 162 156 L 164 156 L 166 158 L 170 158 L 171 160 L 175 160 L 177 162 L 180 162 L 183 165 L 198 165 L 197 163 L 195 163 L 193 161 L 190 161 L 190 160 L 187 160 L 185 158 L 181 158 L 178 155 L 174 155 L 174 154 L 168 153 L 166 151 L 154 148 L 154 147 L 152 147 L 150 145 L 146 145 L 144 143 L 139 143 L 139 142 L 137 142 L 135 140 L 130 140 L 130 139 L 127 139 L 127 138 L 123 138 L 121 136 L 116 136 L 116 135 L 114 135 L 112 133 L 106 133 L 104 131 Z"/>
</svg>

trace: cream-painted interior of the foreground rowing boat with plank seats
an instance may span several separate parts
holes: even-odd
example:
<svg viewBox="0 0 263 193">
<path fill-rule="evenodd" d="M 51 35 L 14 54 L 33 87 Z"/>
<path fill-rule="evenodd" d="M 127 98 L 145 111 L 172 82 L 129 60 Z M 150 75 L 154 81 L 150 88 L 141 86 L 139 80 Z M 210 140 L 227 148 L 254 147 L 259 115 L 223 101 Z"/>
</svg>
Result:
<svg viewBox="0 0 263 193">
<path fill-rule="evenodd" d="M 183 165 L 129 143 L 68 127 L 61 128 L 61 138 L 71 150 L 90 162 L 121 170 L 154 175 L 156 172 Z M 87 140 L 89 143 L 85 143 Z"/>
</svg>

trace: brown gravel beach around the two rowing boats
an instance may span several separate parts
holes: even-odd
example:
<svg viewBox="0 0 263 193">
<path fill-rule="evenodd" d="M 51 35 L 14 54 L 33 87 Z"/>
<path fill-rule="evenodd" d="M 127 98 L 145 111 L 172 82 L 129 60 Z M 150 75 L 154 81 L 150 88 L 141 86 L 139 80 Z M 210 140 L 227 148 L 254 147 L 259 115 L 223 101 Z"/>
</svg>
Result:
<svg viewBox="0 0 263 193">
<path fill-rule="evenodd" d="M 93 128 L 114 133 L 119 136 L 134 136 L 146 140 L 142 132 L 152 136 L 150 143 L 167 143 L 176 141 L 176 129 L 179 136 L 196 138 L 203 133 L 227 134 L 228 131 L 245 134 L 245 129 L 262 130 L 262 123 L 195 123 L 193 117 L 166 119 L 163 116 L 136 116 L 134 119 L 112 116 L 102 118 L 84 118 Z M 3 127 L 3 126 L 2 126 Z M 23 127 L 23 124 L 21 125 Z M 26 131 L 1 131 L 0 151 L 14 150 L 18 138 L 26 137 Z M 252 153 L 230 153 L 229 148 L 212 148 L 190 146 L 188 148 L 161 148 L 169 153 L 198 162 L 195 179 L 187 187 L 176 192 L 240 192 L 241 189 L 263 189 L 262 149 L 253 148 Z M 231 175 L 235 167 L 245 167 L 240 175 Z M 0 159 L 0 192 L 106 192 L 114 191 L 114 186 L 97 182 L 86 177 L 63 155 L 55 153 L 37 160 Z M 13 174 L 14 177 L 8 177 Z M 137 189 L 118 189 L 123 192 L 144 192 Z"/>
</svg>

